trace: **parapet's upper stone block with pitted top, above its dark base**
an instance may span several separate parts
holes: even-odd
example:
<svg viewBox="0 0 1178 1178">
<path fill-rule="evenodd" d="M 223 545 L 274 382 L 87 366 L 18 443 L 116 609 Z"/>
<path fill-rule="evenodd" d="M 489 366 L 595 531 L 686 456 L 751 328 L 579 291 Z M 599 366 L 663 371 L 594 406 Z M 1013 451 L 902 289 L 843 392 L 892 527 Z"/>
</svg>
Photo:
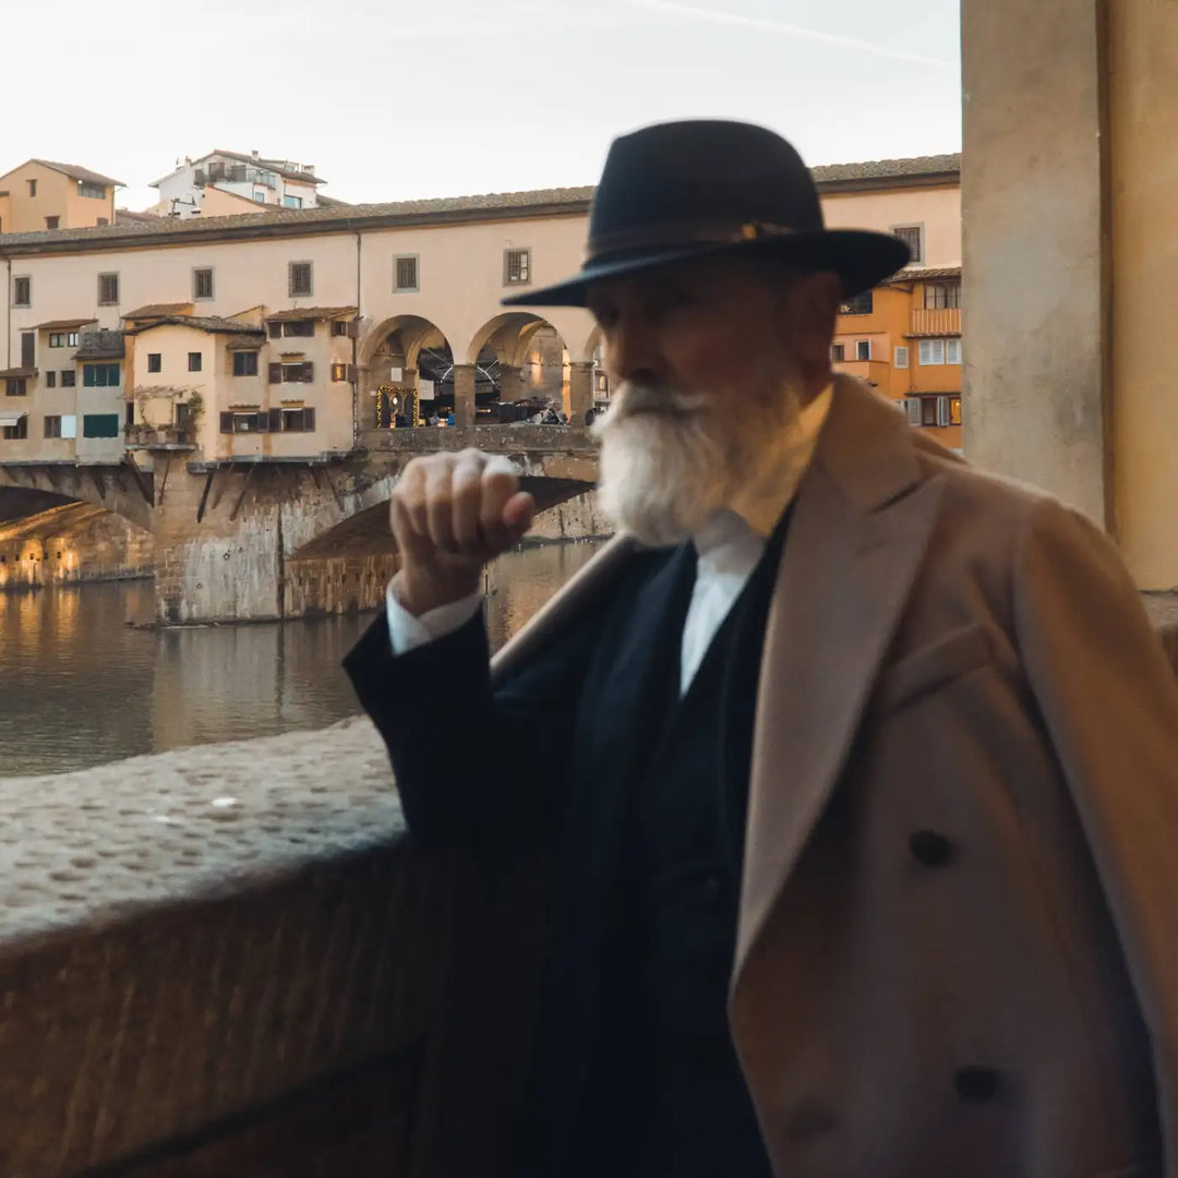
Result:
<svg viewBox="0 0 1178 1178">
<path fill-rule="evenodd" d="M 8 779 L 0 807 L 5 1178 L 435 1050 L 474 876 L 406 852 L 366 721 Z"/>
</svg>

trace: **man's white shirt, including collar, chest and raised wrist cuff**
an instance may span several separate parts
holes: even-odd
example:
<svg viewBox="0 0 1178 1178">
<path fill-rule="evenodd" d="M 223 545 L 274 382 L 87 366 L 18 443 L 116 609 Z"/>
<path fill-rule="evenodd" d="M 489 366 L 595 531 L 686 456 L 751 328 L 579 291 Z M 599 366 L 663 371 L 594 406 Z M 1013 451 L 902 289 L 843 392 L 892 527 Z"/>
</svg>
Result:
<svg viewBox="0 0 1178 1178">
<path fill-rule="evenodd" d="M 765 545 L 798 490 L 814 455 L 818 436 L 830 410 L 830 385 L 801 411 L 794 426 L 765 452 L 760 470 L 728 507 L 716 511 L 691 537 L 699 554 L 691 603 L 683 623 L 680 691 L 686 691 L 703 656 L 765 554 Z M 439 605 L 419 617 L 386 594 L 389 641 L 395 655 L 444 637 L 475 616 L 482 591 Z"/>
</svg>

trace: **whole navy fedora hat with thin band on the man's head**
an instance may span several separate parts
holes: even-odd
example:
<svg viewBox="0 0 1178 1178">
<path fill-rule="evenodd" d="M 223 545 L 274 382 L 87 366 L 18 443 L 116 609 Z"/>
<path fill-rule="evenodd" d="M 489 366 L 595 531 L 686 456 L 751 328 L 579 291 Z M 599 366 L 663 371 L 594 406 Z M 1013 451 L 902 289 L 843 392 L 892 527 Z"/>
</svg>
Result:
<svg viewBox="0 0 1178 1178">
<path fill-rule="evenodd" d="M 909 259 L 891 233 L 827 229 L 809 168 L 775 132 L 724 120 L 661 123 L 610 145 L 580 273 L 503 305 L 584 306 L 590 284 L 603 278 L 727 251 L 772 251 L 806 271 L 834 271 L 847 298 Z"/>
</svg>

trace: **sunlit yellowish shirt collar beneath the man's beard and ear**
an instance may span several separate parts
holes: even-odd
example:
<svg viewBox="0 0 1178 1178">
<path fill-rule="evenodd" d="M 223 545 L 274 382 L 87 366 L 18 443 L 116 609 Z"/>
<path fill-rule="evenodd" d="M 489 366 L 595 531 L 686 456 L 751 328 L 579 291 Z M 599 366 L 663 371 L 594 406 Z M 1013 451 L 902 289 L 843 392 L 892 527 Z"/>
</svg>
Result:
<svg viewBox="0 0 1178 1178">
<path fill-rule="evenodd" d="M 828 384 L 766 446 L 760 470 L 727 508 L 716 511 L 693 537 L 701 558 L 719 557 L 720 549 L 740 543 L 741 537 L 763 542 L 773 534 L 781 514 L 798 490 L 814 456 L 819 434 L 830 412 L 834 385 Z"/>
</svg>

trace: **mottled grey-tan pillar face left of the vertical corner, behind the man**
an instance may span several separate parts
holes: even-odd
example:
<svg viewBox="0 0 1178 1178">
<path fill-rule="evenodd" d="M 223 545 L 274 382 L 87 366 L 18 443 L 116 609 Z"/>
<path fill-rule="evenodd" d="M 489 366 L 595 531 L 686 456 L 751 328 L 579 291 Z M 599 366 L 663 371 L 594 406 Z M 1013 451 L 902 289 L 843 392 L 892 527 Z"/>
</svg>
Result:
<svg viewBox="0 0 1178 1178">
<path fill-rule="evenodd" d="M 966 457 L 1107 525 L 1101 8 L 962 2 L 962 401 Z"/>
</svg>

